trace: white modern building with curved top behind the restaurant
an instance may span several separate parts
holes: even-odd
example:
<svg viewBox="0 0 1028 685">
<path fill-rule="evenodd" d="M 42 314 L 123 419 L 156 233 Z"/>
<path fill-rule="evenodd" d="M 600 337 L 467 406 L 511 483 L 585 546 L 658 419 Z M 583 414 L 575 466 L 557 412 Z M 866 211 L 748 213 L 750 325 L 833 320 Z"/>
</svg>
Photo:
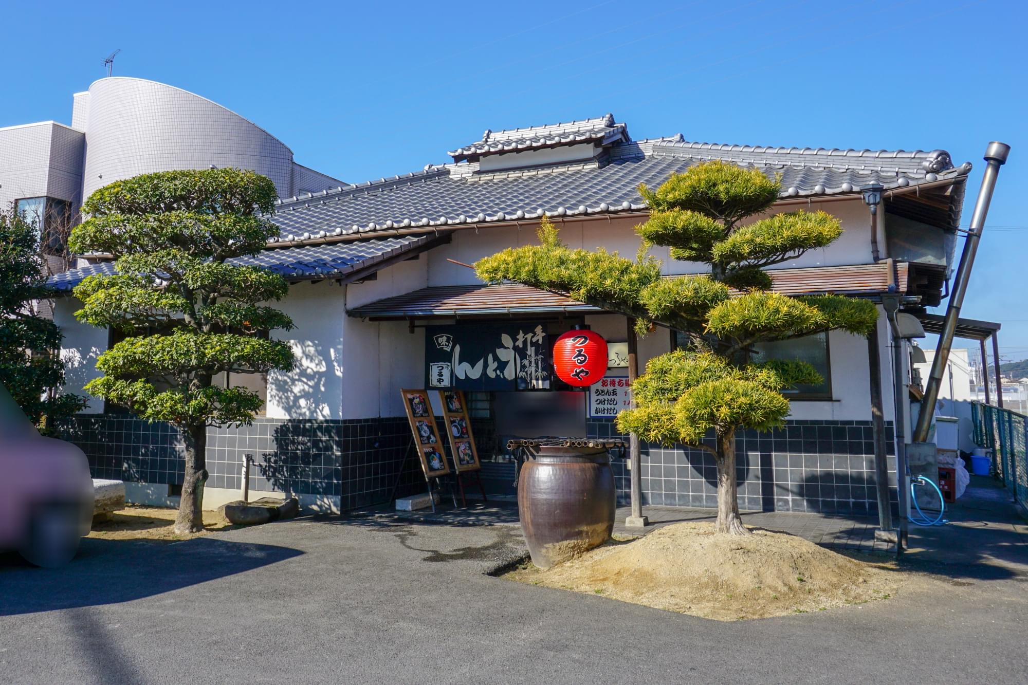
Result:
<svg viewBox="0 0 1028 685">
<path fill-rule="evenodd" d="M 97 188 L 137 174 L 237 167 L 274 181 L 281 197 L 345 184 L 297 164 L 257 124 L 181 88 L 114 76 L 76 93 L 71 125 L 0 129 L 0 207 L 32 218 L 73 216 Z"/>
</svg>

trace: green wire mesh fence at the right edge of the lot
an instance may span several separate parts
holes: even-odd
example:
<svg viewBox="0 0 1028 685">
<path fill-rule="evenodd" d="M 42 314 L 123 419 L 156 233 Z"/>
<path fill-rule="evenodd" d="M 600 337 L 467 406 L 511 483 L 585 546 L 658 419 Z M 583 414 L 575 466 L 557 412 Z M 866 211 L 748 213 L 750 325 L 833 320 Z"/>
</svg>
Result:
<svg viewBox="0 0 1028 685">
<path fill-rule="evenodd" d="M 1028 506 L 1028 417 L 971 402 L 975 444 L 992 450 L 992 473 Z"/>
</svg>

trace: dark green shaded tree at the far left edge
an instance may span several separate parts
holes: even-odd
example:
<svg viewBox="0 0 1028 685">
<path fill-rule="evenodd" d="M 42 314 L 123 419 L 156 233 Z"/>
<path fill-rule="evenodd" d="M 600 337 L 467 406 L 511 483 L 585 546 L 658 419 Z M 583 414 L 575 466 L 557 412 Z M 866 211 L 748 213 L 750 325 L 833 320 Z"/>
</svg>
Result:
<svg viewBox="0 0 1028 685">
<path fill-rule="evenodd" d="M 38 313 L 51 293 L 39 252 L 39 229 L 13 208 L 0 212 L 0 383 L 42 433 L 85 405 L 59 395 L 64 383 L 61 331 Z"/>
</svg>

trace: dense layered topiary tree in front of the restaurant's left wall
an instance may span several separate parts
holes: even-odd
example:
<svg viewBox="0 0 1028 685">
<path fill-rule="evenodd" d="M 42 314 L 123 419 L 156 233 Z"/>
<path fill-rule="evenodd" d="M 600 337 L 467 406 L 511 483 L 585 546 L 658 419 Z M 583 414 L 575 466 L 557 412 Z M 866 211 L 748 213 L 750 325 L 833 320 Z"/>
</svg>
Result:
<svg viewBox="0 0 1028 685">
<path fill-rule="evenodd" d="M 237 169 L 144 174 L 105 186 L 82 206 L 88 218 L 71 235 L 77 253 L 115 258 L 116 275 L 91 276 L 74 294 L 75 316 L 127 337 L 97 359 L 101 377 L 86 390 L 140 418 L 176 426 L 185 474 L 175 531 L 203 530 L 208 426 L 250 424 L 261 399 L 243 387 L 219 387 L 223 372 L 292 370 L 291 329 L 282 312 L 261 304 L 289 285 L 233 257 L 260 252 L 279 230 L 270 179 Z"/>
</svg>

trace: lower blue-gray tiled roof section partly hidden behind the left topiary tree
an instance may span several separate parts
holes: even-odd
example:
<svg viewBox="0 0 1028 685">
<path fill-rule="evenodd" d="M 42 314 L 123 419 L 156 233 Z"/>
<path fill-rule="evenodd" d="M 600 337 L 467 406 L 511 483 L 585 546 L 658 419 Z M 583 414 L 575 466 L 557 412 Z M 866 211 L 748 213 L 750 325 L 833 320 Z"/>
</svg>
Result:
<svg viewBox="0 0 1028 685">
<path fill-rule="evenodd" d="M 289 280 L 337 278 L 352 272 L 410 252 L 428 243 L 428 236 L 403 236 L 332 245 L 265 250 L 257 256 L 230 259 L 229 263 L 264 266 Z M 59 292 L 70 292 L 94 274 L 114 274 L 113 262 L 89 264 L 51 276 L 46 284 Z"/>
</svg>

